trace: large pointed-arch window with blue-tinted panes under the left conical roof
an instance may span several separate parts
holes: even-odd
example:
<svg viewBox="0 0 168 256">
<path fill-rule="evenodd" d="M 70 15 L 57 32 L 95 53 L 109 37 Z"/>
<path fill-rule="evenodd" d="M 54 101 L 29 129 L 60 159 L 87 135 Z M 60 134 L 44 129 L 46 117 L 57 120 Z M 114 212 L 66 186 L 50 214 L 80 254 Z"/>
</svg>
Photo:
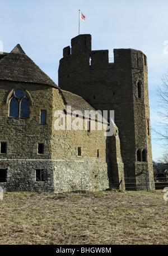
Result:
<svg viewBox="0 0 168 256">
<path fill-rule="evenodd" d="M 22 89 L 13 91 L 10 97 L 10 116 L 29 118 L 29 97 Z"/>
</svg>

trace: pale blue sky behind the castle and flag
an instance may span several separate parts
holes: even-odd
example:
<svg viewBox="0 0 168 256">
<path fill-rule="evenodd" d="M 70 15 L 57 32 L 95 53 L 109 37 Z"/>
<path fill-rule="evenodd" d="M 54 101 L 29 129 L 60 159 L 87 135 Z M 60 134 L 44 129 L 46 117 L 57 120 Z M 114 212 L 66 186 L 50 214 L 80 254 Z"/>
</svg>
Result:
<svg viewBox="0 0 168 256">
<path fill-rule="evenodd" d="M 86 15 L 81 34 L 92 35 L 92 50 L 114 48 L 141 50 L 148 60 L 151 127 L 156 114 L 156 86 L 168 70 L 168 1 L 164 0 L 0 0 L 0 41 L 11 52 L 17 43 L 58 84 L 58 65 L 63 48 L 78 35 L 78 10 Z M 168 44 L 167 44 L 168 45 Z M 0 51 L 2 44 L 0 43 Z M 152 132 L 153 160 L 162 155 L 161 142 Z"/>
</svg>

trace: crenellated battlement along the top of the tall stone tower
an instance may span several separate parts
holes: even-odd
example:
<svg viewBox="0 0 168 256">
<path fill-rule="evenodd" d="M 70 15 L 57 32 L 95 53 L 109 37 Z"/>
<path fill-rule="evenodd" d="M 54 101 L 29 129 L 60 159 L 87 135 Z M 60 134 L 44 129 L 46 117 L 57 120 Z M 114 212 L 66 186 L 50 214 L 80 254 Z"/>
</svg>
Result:
<svg viewBox="0 0 168 256">
<path fill-rule="evenodd" d="M 76 61 L 81 64 L 91 66 L 92 68 L 138 68 L 143 69 L 147 66 L 147 58 L 143 52 L 139 50 L 128 49 L 114 49 L 114 61 L 109 61 L 109 50 L 92 50 L 91 49 L 91 35 L 83 34 L 72 38 L 71 47 L 67 46 L 63 49 L 63 59 L 71 56 L 73 64 Z M 113 65 L 111 65 L 113 64 Z"/>
</svg>

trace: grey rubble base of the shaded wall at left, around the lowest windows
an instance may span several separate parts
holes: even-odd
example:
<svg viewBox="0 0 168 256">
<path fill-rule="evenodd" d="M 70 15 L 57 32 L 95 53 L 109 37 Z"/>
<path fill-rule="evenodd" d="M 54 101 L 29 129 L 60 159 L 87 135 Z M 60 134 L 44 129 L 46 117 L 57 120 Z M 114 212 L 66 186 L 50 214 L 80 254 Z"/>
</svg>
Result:
<svg viewBox="0 0 168 256">
<path fill-rule="evenodd" d="M 4 191 L 54 192 L 52 161 L 38 159 L 6 159 L 0 161 L 6 169 L 6 182 L 0 182 Z M 41 169 L 44 181 L 36 181 L 36 169 Z"/>
</svg>

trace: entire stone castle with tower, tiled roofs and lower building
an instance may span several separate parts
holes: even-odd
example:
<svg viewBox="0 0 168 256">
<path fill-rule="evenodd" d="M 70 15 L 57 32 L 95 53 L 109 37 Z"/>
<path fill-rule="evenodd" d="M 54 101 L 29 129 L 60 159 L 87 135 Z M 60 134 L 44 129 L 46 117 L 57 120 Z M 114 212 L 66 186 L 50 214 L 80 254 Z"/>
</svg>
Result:
<svg viewBox="0 0 168 256">
<path fill-rule="evenodd" d="M 57 86 L 17 44 L 0 53 L 0 102 L 4 190 L 138 190 L 146 178 L 155 189 L 141 51 L 115 49 L 110 63 L 108 50 L 91 49 L 90 34 L 78 35 L 63 49 Z M 85 111 L 100 116 L 84 119 Z M 100 129 L 104 111 L 111 136 Z"/>
</svg>

